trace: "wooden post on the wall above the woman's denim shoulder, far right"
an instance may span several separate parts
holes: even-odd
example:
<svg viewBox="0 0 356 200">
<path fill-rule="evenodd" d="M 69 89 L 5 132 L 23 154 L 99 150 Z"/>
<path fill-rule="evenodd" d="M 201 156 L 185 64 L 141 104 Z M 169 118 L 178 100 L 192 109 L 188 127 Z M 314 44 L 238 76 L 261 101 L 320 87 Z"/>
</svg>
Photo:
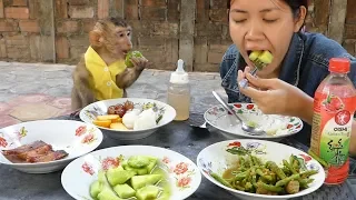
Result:
<svg viewBox="0 0 356 200">
<path fill-rule="evenodd" d="M 347 0 L 332 0 L 328 37 L 343 43 L 347 12 Z"/>
</svg>

